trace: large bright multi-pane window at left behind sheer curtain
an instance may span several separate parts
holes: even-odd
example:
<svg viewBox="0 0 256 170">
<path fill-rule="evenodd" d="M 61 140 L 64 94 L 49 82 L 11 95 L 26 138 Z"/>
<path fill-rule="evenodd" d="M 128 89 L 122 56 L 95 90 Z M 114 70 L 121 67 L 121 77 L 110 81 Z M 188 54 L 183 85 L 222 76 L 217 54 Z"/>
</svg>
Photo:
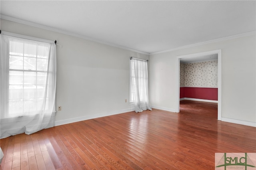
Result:
<svg viewBox="0 0 256 170">
<path fill-rule="evenodd" d="M 6 46 L 6 74 L 1 77 L 5 82 L 5 98 L 2 101 L 6 101 L 2 118 L 49 110 L 46 93 L 51 44 L 9 37 Z"/>
</svg>

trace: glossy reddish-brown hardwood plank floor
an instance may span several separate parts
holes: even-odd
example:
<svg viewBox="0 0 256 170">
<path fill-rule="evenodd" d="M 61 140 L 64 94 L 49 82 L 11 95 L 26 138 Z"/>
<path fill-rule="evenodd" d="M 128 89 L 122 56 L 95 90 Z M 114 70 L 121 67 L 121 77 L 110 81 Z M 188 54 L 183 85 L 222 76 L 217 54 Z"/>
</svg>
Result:
<svg viewBox="0 0 256 170">
<path fill-rule="evenodd" d="M 0 140 L 1 170 L 214 170 L 216 152 L 256 152 L 256 128 L 217 121 L 217 103 L 123 113 Z"/>
</svg>

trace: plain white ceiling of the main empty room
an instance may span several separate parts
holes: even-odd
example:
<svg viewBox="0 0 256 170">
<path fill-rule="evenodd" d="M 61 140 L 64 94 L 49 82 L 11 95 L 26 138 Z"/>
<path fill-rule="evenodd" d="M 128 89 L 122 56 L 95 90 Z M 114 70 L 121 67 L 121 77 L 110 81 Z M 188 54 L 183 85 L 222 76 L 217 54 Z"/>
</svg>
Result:
<svg viewBox="0 0 256 170">
<path fill-rule="evenodd" d="M 256 31 L 255 0 L 1 0 L 0 9 L 3 19 L 144 53 Z"/>
</svg>

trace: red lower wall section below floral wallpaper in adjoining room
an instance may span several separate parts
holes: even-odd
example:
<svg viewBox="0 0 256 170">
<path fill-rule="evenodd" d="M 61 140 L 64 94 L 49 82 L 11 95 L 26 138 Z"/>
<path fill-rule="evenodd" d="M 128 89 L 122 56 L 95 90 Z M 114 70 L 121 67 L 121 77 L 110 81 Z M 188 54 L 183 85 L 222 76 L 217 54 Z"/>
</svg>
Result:
<svg viewBox="0 0 256 170">
<path fill-rule="evenodd" d="M 218 101 L 218 88 L 180 87 L 180 98 L 184 97 Z"/>
</svg>

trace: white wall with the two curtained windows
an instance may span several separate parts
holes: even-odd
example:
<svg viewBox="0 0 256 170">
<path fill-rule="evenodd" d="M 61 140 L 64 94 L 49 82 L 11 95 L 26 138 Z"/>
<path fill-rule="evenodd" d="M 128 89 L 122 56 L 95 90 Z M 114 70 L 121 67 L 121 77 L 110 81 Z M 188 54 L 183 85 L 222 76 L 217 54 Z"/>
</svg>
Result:
<svg viewBox="0 0 256 170">
<path fill-rule="evenodd" d="M 130 56 L 149 55 L 120 49 L 1 19 L 2 31 L 57 40 L 56 125 L 133 110 L 129 103 Z"/>
</svg>

